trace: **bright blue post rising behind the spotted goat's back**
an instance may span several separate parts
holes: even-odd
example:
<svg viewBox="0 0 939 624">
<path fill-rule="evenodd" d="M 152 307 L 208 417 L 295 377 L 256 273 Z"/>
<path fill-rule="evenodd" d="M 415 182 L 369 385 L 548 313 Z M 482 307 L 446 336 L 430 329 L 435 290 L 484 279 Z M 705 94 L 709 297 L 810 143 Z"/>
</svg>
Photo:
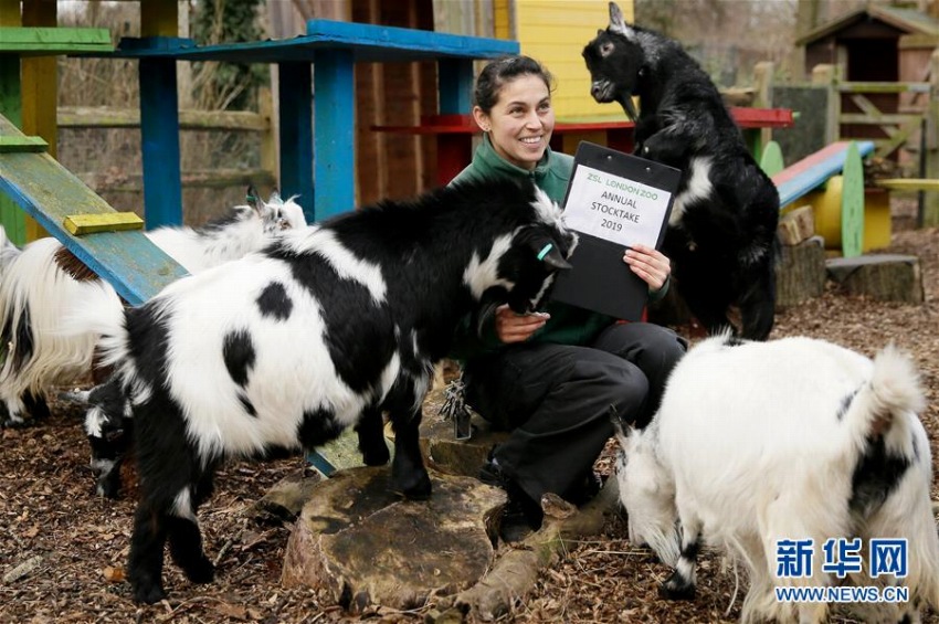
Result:
<svg viewBox="0 0 939 624">
<path fill-rule="evenodd" d="M 321 221 L 356 205 L 356 89 L 352 55 L 324 50 L 313 73 L 316 128 L 314 179 L 316 218 Z M 323 97 L 323 94 L 328 94 Z"/>
</svg>

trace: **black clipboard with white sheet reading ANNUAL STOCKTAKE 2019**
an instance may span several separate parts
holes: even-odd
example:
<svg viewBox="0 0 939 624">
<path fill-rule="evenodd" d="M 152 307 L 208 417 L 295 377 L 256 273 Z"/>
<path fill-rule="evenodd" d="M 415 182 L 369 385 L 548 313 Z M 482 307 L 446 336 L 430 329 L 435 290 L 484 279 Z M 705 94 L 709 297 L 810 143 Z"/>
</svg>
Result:
<svg viewBox="0 0 939 624">
<path fill-rule="evenodd" d="M 581 141 L 565 194 L 565 221 L 580 242 L 558 274 L 552 300 L 640 320 L 648 285 L 623 262 L 635 243 L 658 248 L 672 213 L 682 171 Z"/>
</svg>

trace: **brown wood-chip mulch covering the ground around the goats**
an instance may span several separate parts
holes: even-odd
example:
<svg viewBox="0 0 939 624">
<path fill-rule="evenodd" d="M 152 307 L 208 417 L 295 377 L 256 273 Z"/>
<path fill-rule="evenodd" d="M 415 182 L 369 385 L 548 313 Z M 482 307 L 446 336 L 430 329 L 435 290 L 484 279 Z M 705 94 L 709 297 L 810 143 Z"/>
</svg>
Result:
<svg viewBox="0 0 939 624">
<path fill-rule="evenodd" d="M 910 351 L 922 372 L 929 406 L 922 420 L 939 456 L 939 230 L 895 232 L 893 253 L 920 257 L 926 303 L 900 305 L 847 297 L 833 287 L 822 297 L 778 315 L 772 337 L 808 335 L 873 356 L 889 341 Z M 341 622 L 350 617 L 313 590 L 279 585 L 291 526 L 264 523 L 247 514 L 267 488 L 309 470 L 303 459 L 236 462 L 220 472 L 214 498 L 201 511 L 205 549 L 217 581 L 188 583 L 167 565 L 171 600 L 138 606 L 124 582 L 134 490 L 110 501 L 92 494 L 82 413 L 53 403 L 38 426 L 0 431 L 0 622 Z M 610 454 L 598 463 L 609 474 Z M 935 469 L 933 469 L 935 472 Z M 126 479 L 129 480 L 129 479 Z M 933 485 L 933 498 L 937 496 Z M 569 544 L 567 556 L 541 574 L 506 622 L 630 622 L 685 624 L 735 622 L 746 582 L 735 586 L 714 552 L 698 567 L 694 602 L 658 599 L 668 570 L 626 540 L 614 518 L 603 535 Z M 429 609 L 432 605 L 429 605 Z M 426 610 L 373 610 L 374 622 L 420 622 Z M 835 616 L 834 622 L 854 622 Z M 939 624 L 935 612 L 924 622 Z"/>
</svg>

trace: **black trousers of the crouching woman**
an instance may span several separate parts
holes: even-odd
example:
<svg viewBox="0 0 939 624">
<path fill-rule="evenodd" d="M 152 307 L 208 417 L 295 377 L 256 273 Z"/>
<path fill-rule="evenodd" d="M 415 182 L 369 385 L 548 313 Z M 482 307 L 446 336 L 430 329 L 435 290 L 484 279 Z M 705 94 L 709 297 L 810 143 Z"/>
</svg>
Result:
<svg viewBox="0 0 939 624">
<path fill-rule="evenodd" d="M 511 431 L 494 458 L 532 499 L 570 498 L 613 435 L 611 415 L 642 427 L 687 342 L 671 329 L 616 324 L 587 347 L 521 343 L 466 367 L 466 400 Z"/>
</svg>

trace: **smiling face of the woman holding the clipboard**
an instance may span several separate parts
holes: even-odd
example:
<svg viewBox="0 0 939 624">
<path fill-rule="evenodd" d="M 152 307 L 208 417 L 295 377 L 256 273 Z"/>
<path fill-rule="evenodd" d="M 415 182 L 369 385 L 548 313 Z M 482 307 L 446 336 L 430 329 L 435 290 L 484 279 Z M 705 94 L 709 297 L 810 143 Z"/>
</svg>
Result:
<svg viewBox="0 0 939 624">
<path fill-rule="evenodd" d="M 523 169 L 535 169 L 555 129 L 551 93 L 539 76 L 524 74 L 507 82 L 486 115 L 477 106 L 476 123 L 489 133 L 496 154 Z"/>
</svg>

